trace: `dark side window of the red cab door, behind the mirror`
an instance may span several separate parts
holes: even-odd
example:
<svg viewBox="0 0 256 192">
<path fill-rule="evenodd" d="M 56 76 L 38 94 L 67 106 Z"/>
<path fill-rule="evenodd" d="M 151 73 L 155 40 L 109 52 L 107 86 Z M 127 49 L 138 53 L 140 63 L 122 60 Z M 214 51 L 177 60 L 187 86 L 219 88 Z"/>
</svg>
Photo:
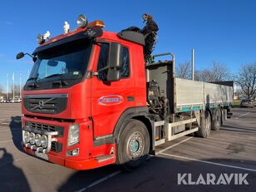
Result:
<svg viewBox="0 0 256 192">
<path fill-rule="evenodd" d="M 101 44 L 101 52 L 98 60 L 97 71 L 106 67 L 107 59 L 109 52 L 109 44 L 102 43 Z M 126 47 L 123 47 L 122 52 L 122 65 L 121 65 L 121 78 L 126 78 L 130 76 L 130 56 L 129 51 Z M 106 71 L 100 71 L 98 78 L 101 80 L 106 80 Z"/>
</svg>

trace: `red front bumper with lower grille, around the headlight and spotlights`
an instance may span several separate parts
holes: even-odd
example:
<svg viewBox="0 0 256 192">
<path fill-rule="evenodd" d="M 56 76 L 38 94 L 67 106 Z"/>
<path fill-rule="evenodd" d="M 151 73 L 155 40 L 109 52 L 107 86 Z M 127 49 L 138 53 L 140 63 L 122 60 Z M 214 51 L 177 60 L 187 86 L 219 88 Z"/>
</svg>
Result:
<svg viewBox="0 0 256 192">
<path fill-rule="evenodd" d="M 31 124 L 26 124 L 29 122 Z M 66 166 L 68 168 L 74 170 L 90 170 L 97 167 L 101 167 L 104 165 L 113 164 L 116 162 L 116 155 L 114 158 L 108 160 L 101 161 L 99 157 L 110 155 L 111 149 L 115 149 L 115 144 L 106 144 L 100 146 L 93 145 L 93 130 L 91 129 L 92 123 L 89 120 L 76 121 L 75 123 L 80 125 L 80 142 L 76 145 L 67 146 L 66 139 L 68 135 L 68 128 L 71 125 L 70 122 L 58 122 L 51 120 L 43 120 L 43 119 L 32 119 L 28 117 L 22 118 L 23 128 L 22 130 L 32 131 L 34 133 L 38 133 L 41 135 L 48 135 L 48 140 L 52 140 L 52 149 L 50 147 L 42 151 L 40 149 L 36 149 L 35 147 L 31 148 L 23 146 L 23 150 L 25 150 L 28 154 L 33 155 L 37 158 L 41 158 L 43 160 L 47 160 L 54 164 Z M 26 125 L 32 126 L 31 130 L 25 129 Z M 53 129 L 54 127 L 54 129 Z M 46 128 L 46 130 L 35 131 L 35 129 Z M 57 131 L 54 133 L 54 131 Z M 53 135 L 49 135 L 47 132 L 54 133 Z M 58 134 L 57 134 L 58 133 Z M 57 135 L 56 135 L 57 134 Z M 51 138 L 50 138 L 51 136 Z M 57 141 L 54 141 L 57 140 Z M 24 141 L 24 140 L 23 140 Z M 48 144 L 48 146 L 51 146 Z M 79 155 L 76 156 L 68 156 L 66 153 L 71 150 L 79 149 Z M 57 149 L 57 150 L 53 150 Z M 37 154 L 36 154 L 37 153 Z M 38 153 L 42 153 L 42 156 L 38 155 Z M 43 158 L 43 154 L 47 156 L 47 158 Z M 115 152 L 116 154 L 116 152 Z"/>
</svg>

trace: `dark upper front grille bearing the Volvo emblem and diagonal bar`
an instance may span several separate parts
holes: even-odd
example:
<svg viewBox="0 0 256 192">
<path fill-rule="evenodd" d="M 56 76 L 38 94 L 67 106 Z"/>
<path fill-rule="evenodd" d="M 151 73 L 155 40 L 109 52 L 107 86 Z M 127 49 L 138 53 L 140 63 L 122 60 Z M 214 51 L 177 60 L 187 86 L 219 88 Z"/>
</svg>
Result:
<svg viewBox="0 0 256 192">
<path fill-rule="evenodd" d="M 66 110 L 67 94 L 25 95 L 27 111 L 44 114 L 58 114 Z"/>
</svg>

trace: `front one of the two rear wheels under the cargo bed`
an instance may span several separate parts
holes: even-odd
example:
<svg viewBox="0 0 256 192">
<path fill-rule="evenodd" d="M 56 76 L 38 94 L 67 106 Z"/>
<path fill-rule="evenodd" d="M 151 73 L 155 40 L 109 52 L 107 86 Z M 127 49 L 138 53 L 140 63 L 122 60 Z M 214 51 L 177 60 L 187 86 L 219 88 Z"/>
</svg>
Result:
<svg viewBox="0 0 256 192">
<path fill-rule="evenodd" d="M 201 126 L 195 134 L 199 137 L 207 138 L 210 134 L 211 129 L 211 118 L 209 111 L 204 111 L 204 116 L 201 117 Z"/>
</svg>

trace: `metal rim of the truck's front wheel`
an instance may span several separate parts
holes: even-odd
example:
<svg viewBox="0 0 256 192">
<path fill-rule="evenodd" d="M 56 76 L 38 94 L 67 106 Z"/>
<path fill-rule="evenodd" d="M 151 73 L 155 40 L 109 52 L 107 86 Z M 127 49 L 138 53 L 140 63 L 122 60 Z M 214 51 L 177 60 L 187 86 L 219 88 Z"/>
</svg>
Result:
<svg viewBox="0 0 256 192">
<path fill-rule="evenodd" d="M 127 140 L 126 152 L 130 160 L 137 160 L 143 154 L 145 140 L 139 131 L 135 131 Z"/>
</svg>

